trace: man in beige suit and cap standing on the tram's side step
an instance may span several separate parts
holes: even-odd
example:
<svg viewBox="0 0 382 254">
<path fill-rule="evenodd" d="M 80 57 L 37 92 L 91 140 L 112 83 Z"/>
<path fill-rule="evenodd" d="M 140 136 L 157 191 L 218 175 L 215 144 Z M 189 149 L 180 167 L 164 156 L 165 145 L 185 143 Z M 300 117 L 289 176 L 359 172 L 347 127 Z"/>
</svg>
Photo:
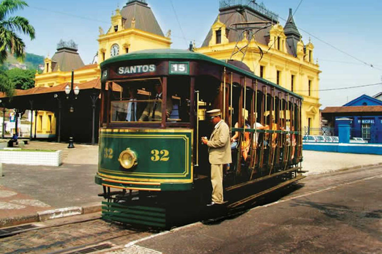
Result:
<svg viewBox="0 0 382 254">
<path fill-rule="evenodd" d="M 207 111 L 207 118 L 214 125 L 209 140 L 202 137 L 201 142 L 208 146 L 209 163 L 211 163 L 212 201 L 208 205 L 222 204 L 223 198 L 223 164 L 232 163 L 229 127 L 221 119 L 219 109 Z"/>
</svg>

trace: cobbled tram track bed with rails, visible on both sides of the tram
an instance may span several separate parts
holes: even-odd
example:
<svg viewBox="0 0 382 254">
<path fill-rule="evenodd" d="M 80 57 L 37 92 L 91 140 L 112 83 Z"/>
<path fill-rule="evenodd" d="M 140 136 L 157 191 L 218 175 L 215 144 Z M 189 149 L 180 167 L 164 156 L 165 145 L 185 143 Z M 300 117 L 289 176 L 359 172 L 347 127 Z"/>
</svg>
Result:
<svg viewBox="0 0 382 254">
<path fill-rule="evenodd" d="M 331 174 L 330 178 L 328 178 L 328 175 L 306 178 L 302 182 L 251 200 L 246 205 L 229 209 L 226 214 L 215 214 L 214 217 L 201 220 L 201 223 L 219 223 L 240 216 L 253 208 L 261 208 L 262 206 L 329 191 L 360 181 L 381 178 L 381 173 L 377 173 L 375 170 L 376 167 L 370 167 L 364 169 L 362 175 L 358 174 L 357 170 L 351 170 Z M 300 189 L 302 186 L 305 187 Z M 139 239 L 154 236 L 158 233 L 158 231 L 126 228 L 120 224 L 106 222 L 100 219 L 99 214 L 86 218 L 80 216 L 77 219 L 68 218 L 61 222 L 53 221 L 37 223 L 40 224 L 38 228 L 0 238 L 0 253 L 72 254 L 83 253 L 83 250 L 90 250 L 87 252 L 90 253 L 92 248 L 95 248 L 95 250 L 96 248 L 106 248 L 105 251 L 116 251 L 123 248 L 121 243 L 139 241 Z M 178 227 L 175 230 L 181 228 Z"/>
</svg>

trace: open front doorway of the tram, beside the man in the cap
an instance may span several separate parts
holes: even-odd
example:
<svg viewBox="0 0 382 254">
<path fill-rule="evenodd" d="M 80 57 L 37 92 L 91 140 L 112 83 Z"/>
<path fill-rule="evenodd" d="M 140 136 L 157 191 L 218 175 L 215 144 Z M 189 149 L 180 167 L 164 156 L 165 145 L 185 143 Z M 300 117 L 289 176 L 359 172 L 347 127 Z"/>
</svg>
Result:
<svg viewBox="0 0 382 254">
<path fill-rule="evenodd" d="M 208 147 L 202 145 L 201 137 L 209 139 L 213 126 L 206 118 L 206 112 L 211 109 L 220 108 L 219 102 L 220 81 L 211 76 L 198 76 L 195 79 L 195 149 L 194 149 L 194 171 L 196 174 L 209 176 L 210 164 L 208 161 Z"/>
</svg>

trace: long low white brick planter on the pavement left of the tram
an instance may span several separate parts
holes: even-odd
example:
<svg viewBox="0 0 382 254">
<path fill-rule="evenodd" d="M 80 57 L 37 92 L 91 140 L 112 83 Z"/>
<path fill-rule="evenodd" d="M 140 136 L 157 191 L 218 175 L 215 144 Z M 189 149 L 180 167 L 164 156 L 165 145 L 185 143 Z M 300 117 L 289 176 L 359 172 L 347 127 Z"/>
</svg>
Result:
<svg viewBox="0 0 382 254">
<path fill-rule="evenodd" d="M 62 150 L 46 151 L 25 151 L 25 150 L 0 150 L 0 163 L 22 164 L 22 165 L 43 165 L 60 166 L 62 164 Z"/>
</svg>

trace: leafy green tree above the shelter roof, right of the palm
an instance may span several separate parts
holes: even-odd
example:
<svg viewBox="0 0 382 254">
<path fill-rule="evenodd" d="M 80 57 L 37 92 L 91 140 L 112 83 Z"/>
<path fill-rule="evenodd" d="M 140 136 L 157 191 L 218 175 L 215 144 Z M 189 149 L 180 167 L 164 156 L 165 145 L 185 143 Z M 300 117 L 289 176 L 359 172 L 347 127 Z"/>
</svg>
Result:
<svg viewBox="0 0 382 254">
<path fill-rule="evenodd" d="M 16 89 L 26 90 L 34 87 L 34 70 L 13 68 L 5 71 L 5 73 L 12 86 Z"/>
</svg>

